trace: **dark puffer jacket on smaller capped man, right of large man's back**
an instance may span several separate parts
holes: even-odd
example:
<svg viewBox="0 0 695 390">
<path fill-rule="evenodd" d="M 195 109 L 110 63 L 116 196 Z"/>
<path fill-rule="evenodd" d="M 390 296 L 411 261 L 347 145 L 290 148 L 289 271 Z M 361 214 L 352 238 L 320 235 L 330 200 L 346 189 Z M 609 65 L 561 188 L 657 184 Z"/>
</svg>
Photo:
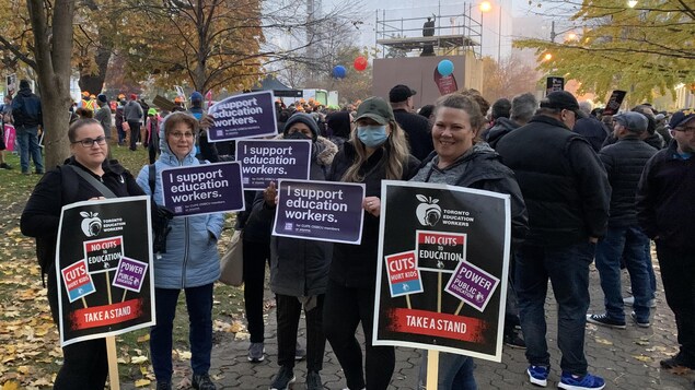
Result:
<svg viewBox="0 0 695 390">
<path fill-rule="evenodd" d="M 635 208 L 637 184 L 647 161 L 655 154 L 657 150 L 642 142 L 637 135 L 628 135 L 599 152 L 612 189 L 609 226 L 637 225 Z"/>
</svg>

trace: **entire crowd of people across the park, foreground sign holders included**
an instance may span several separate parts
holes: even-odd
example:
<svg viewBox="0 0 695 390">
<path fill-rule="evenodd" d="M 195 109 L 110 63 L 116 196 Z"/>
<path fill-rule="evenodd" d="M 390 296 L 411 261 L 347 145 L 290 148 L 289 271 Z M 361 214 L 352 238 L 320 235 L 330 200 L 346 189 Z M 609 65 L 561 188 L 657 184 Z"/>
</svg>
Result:
<svg viewBox="0 0 695 390">
<path fill-rule="evenodd" d="M 28 84 L 20 87 L 22 105 L 15 106 L 13 101 L 11 114 L 19 126 L 18 140 L 22 131 L 22 173 L 28 173 L 31 154 L 36 173 L 43 174 L 40 151 L 32 149 L 43 125 L 40 106 L 36 109 L 39 102 L 31 91 L 22 92 Z M 657 292 L 651 240 L 680 344 L 680 352 L 661 366 L 695 368 L 695 247 L 687 233 L 687 223 L 695 217 L 691 199 L 695 193 L 693 109 L 667 116 L 642 104 L 603 116 L 565 91 L 552 92 L 540 102 L 526 93 L 490 105 L 477 91 L 464 90 L 416 111 L 416 94 L 399 84 L 386 98 L 369 97 L 344 108 L 324 107 L 315 101 L 276 104 L 277 139 L 311 141 L 310 178 L 362 184 L 366 198 L 361 241 L 349 245 L 271 236 L 276 185 L 270 182 L 263 191 L 245 194 L 247 208 L 239 213 L 235 228 L 243 229 L 248 361 L 265 358 L 263 295 L 268 264 L 269 287 L 277 303 L 280 366 L 268 383 L 270 389 L 291 386 L 297 380 L 296 361 L 302 358 L 308 365 L 308 388 L 322 389 L 326 341 L 345 373 L 348 389 L 389 387 L 394 348 L 372 345 L 384 179 L 447 184 L 511 197 L 512 261 L 503 342 L 525 348 L 531 383 L 545 387 L 552 375 L 545 307 L 549 281 L 558 306 L 558 387 L 604 388 L 605 381 L 589 370 L 584 326 L 592 322 L 625 329 L 625 306 L 632 306 L 634 323 L 650 327 Z M 117 102 L 117 143 L 125 145 L 129 139 L 130 150 L 137 150 L 138 140 L 142 140 L 152 166 L 146 165 L 134 178 L 108 159 L 112 107 L 103 94 L 94 97 L 89 93 L 68 131 L 72 156 L 66 161 L 66 165 L 102 181 L 115 197 L 144 193 L 162 204 L 162 184 L 155 175 L 151 187 L 150 169 L 233 158 L 233 144 L 210 143 L 201 131 L 212 120 L 205 115 L 198 92 L 192 94 L 188 109 L 175 102 L 171 113 L 143 106 L 135 94 L 128 98 L 119 95 Z M 38 117 L 26 114 L 36 111 Z M 92 118 L 90 113 L 94 111 Z M 62 205 L 105 197 L 80 179 L 79 196 L 65 199 L 61 169 L 65 167 L 44 175 L 21 218 L 25 235 L 53 240 L 54 245 Z M 158 389 L 172 388 L 172 327 L 182 291 L 189 320 L 193 387 L 216 388 L 208 371 L 222 223 L 222 214 L 174 217 L 167 250 L 157 253 L 157 326 L 150 330 L 150 350 Z M 588 314 L 589 270 L 594 259 L 605 311 Z M 632 297 L 622 296 L 622 268 L 629 272 Z M 58 321 L 56 281 L 48 281 L 50 308 Z M 305 350 L 297 336 L 302 310 Z M 363 347 L 356 338 L 360 326 Z M 63 354 L 56 389 L 80 388 L 76 383 L 103 388 L 107 376 L 104 340 L 74 343 L 66 346 Z M 474 368 L 471 357 L 442 354 L 438 389 L 476 389 Z M 426 375 L 424 362 L 420 387 Z"/>
</svg>

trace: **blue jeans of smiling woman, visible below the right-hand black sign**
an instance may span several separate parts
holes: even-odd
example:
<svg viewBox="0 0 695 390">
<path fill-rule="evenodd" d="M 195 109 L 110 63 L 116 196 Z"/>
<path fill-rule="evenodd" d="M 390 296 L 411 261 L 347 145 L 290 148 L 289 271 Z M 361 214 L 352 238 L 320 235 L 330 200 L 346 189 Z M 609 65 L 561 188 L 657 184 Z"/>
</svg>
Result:
<svg viewBox="0 0 695 390">
<path fill-rule="evenodd" d="M 473 370 L 475 364 L 473 357 L 445 352 L 439 353 L 439 375 L 437 377 L 438 390 L 477 390 Z M 422 353 L 420 365 L 419 389 L 425 389 L 427 383 L 427 351 Z"/>
</svg>

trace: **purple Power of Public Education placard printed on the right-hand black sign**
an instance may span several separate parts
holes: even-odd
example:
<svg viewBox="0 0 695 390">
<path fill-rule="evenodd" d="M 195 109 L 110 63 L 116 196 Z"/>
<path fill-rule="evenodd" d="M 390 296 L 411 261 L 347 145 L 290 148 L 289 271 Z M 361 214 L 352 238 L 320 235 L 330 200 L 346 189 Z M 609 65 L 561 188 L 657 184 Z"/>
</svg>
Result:
<svg viewBox="0 0 695 390">
<path fill-rule="evenodd" d="M 490 300 L 499 279 L 473 265 L 462 261 L 454 274 L 449 279 L 444 291 L 476 308 L 485 311 L 485 306 Z"/>
</svg>

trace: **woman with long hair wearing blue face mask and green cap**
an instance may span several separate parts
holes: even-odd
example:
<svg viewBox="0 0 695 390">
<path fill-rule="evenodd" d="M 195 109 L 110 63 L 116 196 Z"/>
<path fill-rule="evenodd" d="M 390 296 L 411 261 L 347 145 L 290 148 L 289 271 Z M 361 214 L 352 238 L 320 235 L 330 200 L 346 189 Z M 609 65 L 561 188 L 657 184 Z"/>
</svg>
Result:
<svg viewBox="0 0 695 390">
<path fill-rule="evenodd" d="M 386 389 L 395 365 L 392 346 L 372 346 L 372 319 L 379 246 L 381 181 L 407 180 L 419 162 L 408 151 L 389 103 L 370 97 L 357 109 L 357 127 L 333 159 L 328 180 L 366 186 L 364 225 L 360 245 L 335 244 L 324 300 L 324 330 L 351 390 Z M 359 323 L 366 361 L 355 338 Z"/>
</svg>

